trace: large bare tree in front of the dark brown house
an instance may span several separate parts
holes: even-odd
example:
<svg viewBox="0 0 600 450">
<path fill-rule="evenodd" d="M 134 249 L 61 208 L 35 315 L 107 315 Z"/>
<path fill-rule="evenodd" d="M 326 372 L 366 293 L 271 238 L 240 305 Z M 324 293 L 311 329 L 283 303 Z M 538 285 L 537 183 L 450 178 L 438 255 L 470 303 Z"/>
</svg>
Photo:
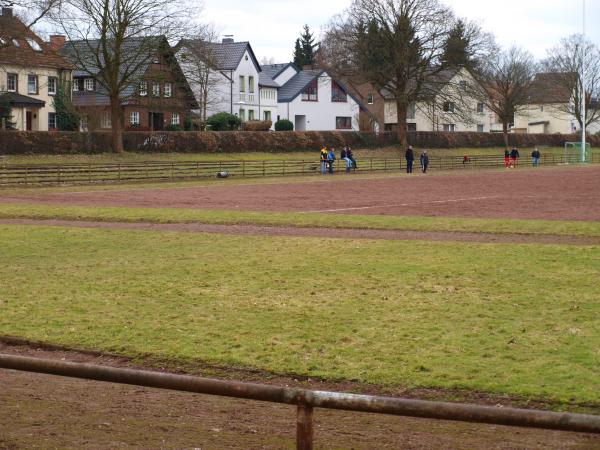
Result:
<svg viewBox="0 0 600 450">
<path fill-rule="evenodd" d="M 106 91 L 114 151 L 123 151 L 122 99 L 164 54 L 168 39 L 193 32 L 191 9 L 184 0 L 63 0 L 54 14 L 70 41 L 69 59 Z"/>
</svg>

